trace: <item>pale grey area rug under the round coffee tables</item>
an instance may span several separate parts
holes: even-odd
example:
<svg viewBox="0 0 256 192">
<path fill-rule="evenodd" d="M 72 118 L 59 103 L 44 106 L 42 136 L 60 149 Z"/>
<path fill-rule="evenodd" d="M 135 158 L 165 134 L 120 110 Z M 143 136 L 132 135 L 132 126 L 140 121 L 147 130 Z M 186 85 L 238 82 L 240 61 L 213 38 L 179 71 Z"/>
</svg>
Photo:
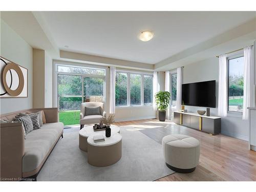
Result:
<svg viewBox="0 0 256 192">
<path fill-rule="evenodd" d="M 120 127 L 122 158 L 106 167 L 87 162 L 78 132 L 65 133 L 42 167 L 37 181 L 154 181 L 173 174 L 164 162 L 161 144 L 133 127 Z"/>
</svg>

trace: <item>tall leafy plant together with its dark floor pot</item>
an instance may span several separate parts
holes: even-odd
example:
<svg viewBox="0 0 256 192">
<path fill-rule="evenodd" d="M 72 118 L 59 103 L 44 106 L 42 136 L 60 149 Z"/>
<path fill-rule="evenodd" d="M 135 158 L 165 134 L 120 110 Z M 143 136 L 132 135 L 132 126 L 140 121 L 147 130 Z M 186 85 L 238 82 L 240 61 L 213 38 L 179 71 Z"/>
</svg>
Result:
<svg viewBox="0 0 256 192">
<path fill-rule="evenodd" d="M 170 93 L 167 91 L 159 91 L 156 93 L 155 99 L 158 108 L 159 121 L 165 121 L 166 109 L 170 103 Z"/>
</svg>

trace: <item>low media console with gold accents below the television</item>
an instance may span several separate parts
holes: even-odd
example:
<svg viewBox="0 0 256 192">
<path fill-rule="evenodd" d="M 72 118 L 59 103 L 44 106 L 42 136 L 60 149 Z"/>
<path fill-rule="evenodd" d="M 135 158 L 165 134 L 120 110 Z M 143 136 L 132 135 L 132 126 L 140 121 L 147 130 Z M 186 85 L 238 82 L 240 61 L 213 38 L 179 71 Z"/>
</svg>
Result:
<svg viewBox="0 0 256 192">
<path fill-rule="evenodd" d="M 212 135 L 221 133 L 221 117 L 174 112 L 174 122 Z"/>
</svg>

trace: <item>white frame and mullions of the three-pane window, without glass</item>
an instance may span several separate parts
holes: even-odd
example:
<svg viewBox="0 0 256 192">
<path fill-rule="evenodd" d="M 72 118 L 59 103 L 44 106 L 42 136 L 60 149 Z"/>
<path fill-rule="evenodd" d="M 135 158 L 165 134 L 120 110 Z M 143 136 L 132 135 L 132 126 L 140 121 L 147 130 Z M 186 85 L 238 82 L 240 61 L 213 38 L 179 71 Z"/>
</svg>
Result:
<svg viewBox="0 0 256 192">
<path fill-rule="evenodd" d="M 152 76 L 153 73 L 142 73 L 136 71 L 126 71 L 126 70 L 116 70 L 116 73 L 126 73 L 127 74 L 127 104 L 115 106 L 116 108 L 129 108 L 129 107 L 139 107 L 139 106 L 153 106 L 152 103 L 144 103 L 144 75 Z M 140 105 L 131 105 L 131 74 L 140 75 L 141 83 L 140 83 Z M 153 82 L 152 82 L 153 87 Z"/>
</svg>

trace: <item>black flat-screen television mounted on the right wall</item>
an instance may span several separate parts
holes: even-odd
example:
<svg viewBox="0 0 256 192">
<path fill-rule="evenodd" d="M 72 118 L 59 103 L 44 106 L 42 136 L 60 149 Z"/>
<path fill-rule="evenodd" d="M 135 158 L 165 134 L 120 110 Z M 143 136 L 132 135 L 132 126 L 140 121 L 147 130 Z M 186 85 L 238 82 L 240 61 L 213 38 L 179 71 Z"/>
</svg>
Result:
<svg viewBox="0 0 256 192">
<path fill-rule="evenodd" d="M 182 84 L 182 102 L 185 105 L 216 108 L 216 81 Z"/>
</svg>

